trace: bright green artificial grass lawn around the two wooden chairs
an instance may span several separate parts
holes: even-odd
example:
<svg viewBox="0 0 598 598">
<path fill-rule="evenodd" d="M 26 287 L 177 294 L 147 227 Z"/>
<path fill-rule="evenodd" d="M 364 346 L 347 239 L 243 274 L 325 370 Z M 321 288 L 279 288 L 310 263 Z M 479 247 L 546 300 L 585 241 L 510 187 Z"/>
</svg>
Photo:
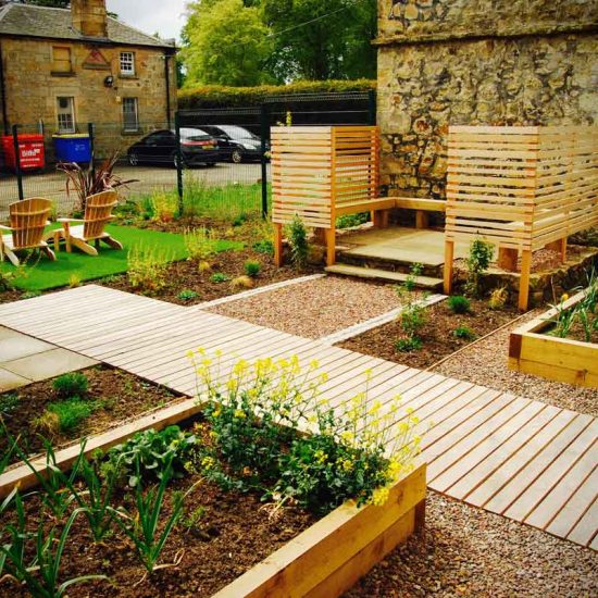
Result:
<svg viewBox="0 0 598 598">
<path fill-rule="evenodd" d="M 32 265 L 26 265 L 24 274 L 17 275 L 12 281 L 13 286 L 22 290 L 47 290 L 68 285 L 71 275 L 75 275 L 83 283 L 122 274 L 127 271 L 128 250 L 136 245 L 155 248 L 166 253 L 171 261 L 184 260 L 187 257 L 183 235 L 116 225 L 107 226 L 107 231 L 123 244 L 123 249 L 112 249 L 102 244 L 99 256 L 95 258 L 75 248 L 72 253 L 66 253 L 64 246 L 61 245 L 55 262 L 51 262 L 46 256 L 41 256 L 39 261 L 37 257 L 30 258 L 28 264 Z M 242 248 L 244 244 L 238 241 L 214 241 L 214 250 L 217 252 Z M 8 261 L 4 261 L 0 267 L 4 272 L 15 271 Z"/>
</svg>

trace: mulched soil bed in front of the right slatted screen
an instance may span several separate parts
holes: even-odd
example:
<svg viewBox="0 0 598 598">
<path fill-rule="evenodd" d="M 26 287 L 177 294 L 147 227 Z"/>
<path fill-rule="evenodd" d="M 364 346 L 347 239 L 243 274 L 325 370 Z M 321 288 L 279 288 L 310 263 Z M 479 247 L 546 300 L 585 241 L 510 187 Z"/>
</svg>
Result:
<svg viewBox="0 0 598 598">
<path fill-rule="evenodd" d="M 471 301 L 471 313 L 454 314 L 448 309 L 446 301 L 427 308 L 427 322 L 419 334 L 423 347 L 418 351 L 401 352 L 395 348 L 397 340 L 404 337 L 398 320 L 350 338 L 339 346 L 387 361 L 425 369 L 474 340 L 457 338 L 452 333 L 458 326 L 468 326 L 478 338 L 518 315 L 512 308 L 490 310 L 486 302 L 478 300 Z"/>
</svg>

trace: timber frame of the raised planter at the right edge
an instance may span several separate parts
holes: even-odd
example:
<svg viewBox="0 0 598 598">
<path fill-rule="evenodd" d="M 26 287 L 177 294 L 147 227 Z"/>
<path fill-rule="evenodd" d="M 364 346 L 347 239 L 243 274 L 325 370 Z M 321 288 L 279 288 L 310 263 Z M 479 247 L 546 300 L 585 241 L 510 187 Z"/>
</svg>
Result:
<svg viewBox="0 0 598 598">
<path fill-rule="evenodd" d="M 570 309 L 584 297 L 584 291 L 568 299 Z M 598 388 L 598 345 L 548 336 L 547 329 L 558 315 L 551 309 L 511 333 L 509 367 L 557 382 Z"/>
</svg>

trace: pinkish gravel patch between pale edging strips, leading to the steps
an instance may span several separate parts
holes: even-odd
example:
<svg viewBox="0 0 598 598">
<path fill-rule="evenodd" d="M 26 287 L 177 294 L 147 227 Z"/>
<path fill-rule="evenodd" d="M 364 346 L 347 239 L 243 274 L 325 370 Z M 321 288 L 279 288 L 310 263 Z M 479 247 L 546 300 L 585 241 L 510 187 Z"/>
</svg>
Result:
<svg viewBox="0 0 598 598">
<path fill-rule="evenodd" d="M 326 276 L 208 311 L 307 338 L 321 338 L 399 307 L 393 287 Z"/>
</svg>

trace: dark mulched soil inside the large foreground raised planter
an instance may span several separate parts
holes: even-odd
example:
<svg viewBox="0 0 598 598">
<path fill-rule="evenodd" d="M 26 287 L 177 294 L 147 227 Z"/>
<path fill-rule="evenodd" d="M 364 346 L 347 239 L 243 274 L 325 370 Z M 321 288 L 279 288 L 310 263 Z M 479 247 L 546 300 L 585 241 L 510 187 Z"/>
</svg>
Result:
<svg viewBox="0 0 598 598">
<path fill-rule="evenodd" d="M 120 530 L 114 530 L 102 544 L 94 544 L 87 520 L 80 515 L 68 536 L 60 580 L 90 574 L 103 574 L 109 580 L 71 586 L 68 596 L 211 596 L 314 522 L 312 515 L 294 507 L 273 514 L 271 506 L 264 506 L 259 496 L 225 493 L 197 475 L 171 484 L 161 521 L 171 513 L 173 491 L 184 491 L 195 483 L 199 484 L 185 501 L 183 519 L 199 508 L 204 512 L 192 527 L 179 523 L 173 530 L 159 562 L 177 564 L 154 571 L 152 575 L 145 575 L 133 543 Z M 132 494 L 121 495 L 114 506 L 117 503 L 136 512 Z M 42 512 L 37 497 L 27 501 L 27 510 L 32 527 L 37 528 Z M 25 593 L 18 591 L 13 581 L 4 578 L 0 581 L 0 595 L 24 596 Z"/>
</svg>

